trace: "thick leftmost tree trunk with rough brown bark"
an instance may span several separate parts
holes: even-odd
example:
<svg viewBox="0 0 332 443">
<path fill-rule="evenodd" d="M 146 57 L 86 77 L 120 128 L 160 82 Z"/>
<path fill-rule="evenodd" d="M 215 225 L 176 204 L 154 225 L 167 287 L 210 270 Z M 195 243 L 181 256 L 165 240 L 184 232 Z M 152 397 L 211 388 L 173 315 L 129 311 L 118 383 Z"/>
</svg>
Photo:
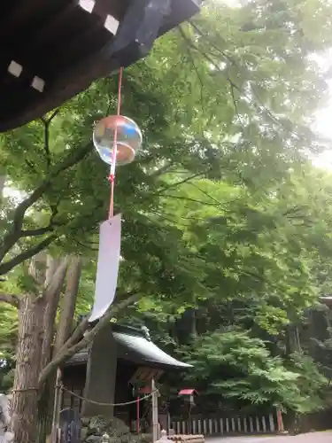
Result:
<svg viewBox="0 0 332 443">
<path fill-rule="evenodd" d="M 43 315 L 43 299 L 27 295 L 20 300 L 19 343 L 12 397 L 15 443 L 35 443 L 36 440 Z"/>
</svg>

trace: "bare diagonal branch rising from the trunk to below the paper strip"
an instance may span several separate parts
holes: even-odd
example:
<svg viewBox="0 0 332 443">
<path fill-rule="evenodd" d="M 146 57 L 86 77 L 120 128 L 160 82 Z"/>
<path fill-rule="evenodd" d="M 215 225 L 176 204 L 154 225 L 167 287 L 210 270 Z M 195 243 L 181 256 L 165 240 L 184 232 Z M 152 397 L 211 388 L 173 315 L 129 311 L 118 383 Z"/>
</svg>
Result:
<svg viewBox="0 0 332 443">
<path fill-rule="evenodd" d="M 73 357 L 74 354 L 77 354 L 79 351 L 81 351 L 81 349 L 88 346 L 89 343 L 97 336 L 97 333 L 102 330 L 107 323 L 110 322 L 114 315 L 117 315 L 122 309 L 131 305 L 140 297 L 141 293 L 136 292 L 135 294 L 129 296 L 127 299 L 124 299 L 114 307 L 111 307 L 108 312 L 106 312 L 106 314 L 99 320 L 97 325 L 92 330 L 89 330 L 89 332 L 75 345 L 71 345 L 72 338 L 69 338 L 66 341 L 65 345 L 62 346 L 61 349 L 58 351 L 58 354 L 55 355 L 53 360 L 50 361 L 50 363 L 44 369 L 42 369 L 42 373 L 39 377 L 39 385 L 42 386 L 60 364 L 64 363 L 66 360 Z M 81 323 L 83 326 L 86 326 L 88 323 L 88 319 L 83 320 Z M 77 329 L 79 328 L 80 326 Z M 73 334 L 75 334 L 76 336 L 78 335 L 76 333 L 76 330 Z"/>
</svg>

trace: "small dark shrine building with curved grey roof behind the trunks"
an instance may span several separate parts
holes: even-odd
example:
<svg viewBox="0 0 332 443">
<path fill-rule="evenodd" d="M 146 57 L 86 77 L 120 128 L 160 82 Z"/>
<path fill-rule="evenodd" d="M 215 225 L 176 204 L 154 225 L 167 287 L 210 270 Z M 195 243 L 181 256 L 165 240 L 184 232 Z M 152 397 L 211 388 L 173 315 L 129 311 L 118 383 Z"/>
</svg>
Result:
<svg viewBox="0 0 332 443">
<path fill-rule="evenodd" d="M 158 381 L 164 372 L 189 368 L 156 346 L 147 328 L 109 323 L 89 349 L 66 363 L 62 408 L 76 409 L 84 417 L 116 416 L 130 425 L 137 418 L 135 403 L 113 408 L 81 398 L 104 404 L 133 402 L 137 392 L 151 392 L 152 381 Z"/>
</svg>

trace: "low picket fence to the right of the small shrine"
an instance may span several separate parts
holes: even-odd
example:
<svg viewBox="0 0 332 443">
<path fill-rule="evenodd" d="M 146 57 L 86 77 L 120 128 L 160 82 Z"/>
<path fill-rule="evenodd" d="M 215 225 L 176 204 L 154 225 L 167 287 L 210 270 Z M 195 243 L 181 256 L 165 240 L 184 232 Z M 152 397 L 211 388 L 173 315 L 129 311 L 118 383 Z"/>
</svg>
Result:
<svg viewBox="0 0 332 443">
<path fill-rule="evenodd" d="M 278 431 L 277 413 L 251 416 L 191 416 L 172 417 L 171 429 L 177 434 L 268 434 Z M 169 432 L 169 430 L 168 430 Z"/>
</svg>

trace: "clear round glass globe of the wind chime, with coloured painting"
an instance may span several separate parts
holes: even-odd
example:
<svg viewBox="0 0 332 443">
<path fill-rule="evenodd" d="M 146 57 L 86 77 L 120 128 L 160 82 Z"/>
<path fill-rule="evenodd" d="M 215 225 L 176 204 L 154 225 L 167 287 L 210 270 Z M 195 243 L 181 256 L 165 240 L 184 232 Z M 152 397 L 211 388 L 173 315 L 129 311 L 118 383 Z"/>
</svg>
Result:
<svg viewBox="0 0 332 443">
<path fill-rule="evenodd" d="M 127 165 L 135 159 L 143 137 L 135 121 L 122 115 L 110 115 L 97 122 L 93 132 L 93 144 L 100 158 L 112 165 L 112 152 L 116 138 L 116 164 Z"/>
</svg>

